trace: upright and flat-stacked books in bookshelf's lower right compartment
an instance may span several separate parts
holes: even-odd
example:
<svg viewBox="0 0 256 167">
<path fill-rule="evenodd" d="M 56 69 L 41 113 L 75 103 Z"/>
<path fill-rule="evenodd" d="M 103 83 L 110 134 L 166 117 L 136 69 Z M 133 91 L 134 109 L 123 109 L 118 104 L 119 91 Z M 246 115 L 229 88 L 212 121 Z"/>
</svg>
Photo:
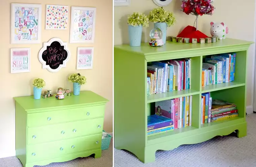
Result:
<svg viewBox="0 0 256 167">
<path fill-rule="evenodd" d="M 212 99 L 210 92 L 201 96 L 201 124 L 215 122 L 238 116 L 236 105 L 222 100 Z"/>
</svg>

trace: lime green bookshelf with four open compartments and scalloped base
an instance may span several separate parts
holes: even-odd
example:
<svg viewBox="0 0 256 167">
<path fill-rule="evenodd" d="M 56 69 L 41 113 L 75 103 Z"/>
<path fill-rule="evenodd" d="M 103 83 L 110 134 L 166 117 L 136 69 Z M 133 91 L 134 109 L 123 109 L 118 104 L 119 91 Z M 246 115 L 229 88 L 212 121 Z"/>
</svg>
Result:
<svg viewBox="0 0 256 167">
<path fill-rule="evenodd" d="M 114 147 L 135 154 L 144 163 L 155 161 L 157 150 L 172 150 L 184 144 L 204 142 L 237 130 L 246 136 L 246 61 L 253 42 L 235 39 L 210 44 L 166 42 L 161 47 L 148 43 L 140 47 L 114 47 Z M 236 53 L 235 78 L 228 83 L 201 86 L 202 62 L 205 56 Z M 191 58 L 191 89 L 147 96 L 147 63 Z M 211 92 L 213 99 L 235 103 L 238 117 L 201 124 L 201 94 Z M 147 116 L 153 114 L 157 101 L 192 95 L 191 126 L 147 136 Z M 237 96 L 238 95 L 238 96 Z"/>
</svg>

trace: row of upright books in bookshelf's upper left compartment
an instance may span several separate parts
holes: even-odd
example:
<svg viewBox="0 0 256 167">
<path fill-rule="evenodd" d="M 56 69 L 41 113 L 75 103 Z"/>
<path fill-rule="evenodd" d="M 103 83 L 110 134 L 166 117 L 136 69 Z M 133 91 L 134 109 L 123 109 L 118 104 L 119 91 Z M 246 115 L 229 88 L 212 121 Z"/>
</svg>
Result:
<svg viewBox="0 0 256 167">
<path fill-rule="evenodd" d="M 147 93 L 158 94 L 191 88 L 191 59 L 150 62 L 147 67 Z"/>
</svg>

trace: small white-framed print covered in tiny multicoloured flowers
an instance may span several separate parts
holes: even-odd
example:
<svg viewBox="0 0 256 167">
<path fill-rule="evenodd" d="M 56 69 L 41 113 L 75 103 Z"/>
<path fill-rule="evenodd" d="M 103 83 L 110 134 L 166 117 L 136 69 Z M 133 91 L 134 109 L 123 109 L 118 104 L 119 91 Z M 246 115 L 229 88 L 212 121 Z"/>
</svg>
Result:
<svg viewBox="0 0 256 167">
<path fill-rule="evenodd" d="M 45 6 L 45 30 L 67 30 L 69 21 L 69 6 Z M 60 17 L 57 17 L 60 16 Z"/>
</svg>

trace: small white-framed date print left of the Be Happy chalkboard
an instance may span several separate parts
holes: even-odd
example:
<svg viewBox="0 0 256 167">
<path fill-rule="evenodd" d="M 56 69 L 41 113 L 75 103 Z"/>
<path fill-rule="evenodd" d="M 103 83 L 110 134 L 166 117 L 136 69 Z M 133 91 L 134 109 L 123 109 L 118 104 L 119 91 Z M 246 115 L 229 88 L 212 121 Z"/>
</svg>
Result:
<svg viewBox="0 0 256 167">
<path fill-rule="evenodd" d="M 10 72 L 30 72 L 30 48 L 10 49 Z"/>
</svg>

